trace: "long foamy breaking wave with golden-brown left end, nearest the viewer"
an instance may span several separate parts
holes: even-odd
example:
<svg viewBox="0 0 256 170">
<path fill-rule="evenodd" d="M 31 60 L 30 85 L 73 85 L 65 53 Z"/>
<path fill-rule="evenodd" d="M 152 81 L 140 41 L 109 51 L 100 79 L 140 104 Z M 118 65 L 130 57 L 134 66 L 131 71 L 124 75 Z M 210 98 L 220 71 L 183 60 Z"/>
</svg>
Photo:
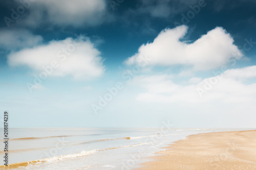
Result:
<svg viewBox="0 0 256 170">
<path fill-rule="evenodd" d="M 113 148 L 95 149 L 95 150 L 91 150 L 91 151 L 82 151 L 81 153 L 77 153 L 77 154 L 61 155 L 58 157 L 51 157 L 51 158 L 45 158 L 45 159 L 39 159 L 39 160 L 33 160 L 33 161 L 12 163 L 12 164 L 8 164 L 8 169 L 9 168 L 10 169 L 18 168 L 21 166 L 34 165 L 37 163 L 47 163 L 47 162 L 54 162 L 54 161 L 60 161 L 60 160 L 66 160 L 66 159 L 73 159 L 73 158 L 91 155 L 91 154 L 94 154 L 94 153 L 100 152 L 100 151 L 108 151 L 108 150 L 114 150 L 114 149 L 126 148 L 126 147 L 136 147 L 136 146 L 142 145 L 142 144 L 146 144 L 146 143 L 138 143 L 138 144 L 132 144 L 132 145 L 126 145 L 126 146 L 113 147 Z M 2 168 L 2 167 L 7 167 L 7 166 L 5 166 L 5 165 L 0 166 L 0 168 Z"/>
</svg>

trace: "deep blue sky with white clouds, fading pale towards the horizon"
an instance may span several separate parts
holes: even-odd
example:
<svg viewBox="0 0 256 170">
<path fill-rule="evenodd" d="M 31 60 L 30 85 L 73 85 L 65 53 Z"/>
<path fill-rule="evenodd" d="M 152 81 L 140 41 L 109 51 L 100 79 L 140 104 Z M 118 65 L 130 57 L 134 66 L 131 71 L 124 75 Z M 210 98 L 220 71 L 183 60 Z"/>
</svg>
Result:
<svg viewBox="0 0 256 170">
<path fill-rule="evenodd" d="M 0 103 L 10 127 L 255 128 L 253 0 L 0 8 Z"/>
</svg>

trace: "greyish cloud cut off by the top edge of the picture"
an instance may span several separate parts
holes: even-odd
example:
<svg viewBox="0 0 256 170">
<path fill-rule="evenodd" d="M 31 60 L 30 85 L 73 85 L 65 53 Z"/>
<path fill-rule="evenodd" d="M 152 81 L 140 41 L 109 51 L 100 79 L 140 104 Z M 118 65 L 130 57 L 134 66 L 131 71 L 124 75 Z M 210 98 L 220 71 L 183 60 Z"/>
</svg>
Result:
<svg viewBox="0 0 256 170">
<path fill-rule="evenodd" d="M 109 18 L 105 17 L 105 0 L 37 0 L 30 5 L 30 14 L 22 22 L 34 27 L 40 22 L 57 26 L 95 26 Z"/>
</svg>

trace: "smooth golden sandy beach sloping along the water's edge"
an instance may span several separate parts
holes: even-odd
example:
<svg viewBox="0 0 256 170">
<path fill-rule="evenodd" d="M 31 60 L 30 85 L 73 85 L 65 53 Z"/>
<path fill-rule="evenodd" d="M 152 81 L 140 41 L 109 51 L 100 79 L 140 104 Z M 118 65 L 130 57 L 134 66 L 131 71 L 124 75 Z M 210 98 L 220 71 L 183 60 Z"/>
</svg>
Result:
<svg viewBox="0 0 256 170">
<path fill-rule="evenodd" d="M 256 130 L 190 135 L 166 149 L 137 169 L 256 169 Z"/>
</svg>

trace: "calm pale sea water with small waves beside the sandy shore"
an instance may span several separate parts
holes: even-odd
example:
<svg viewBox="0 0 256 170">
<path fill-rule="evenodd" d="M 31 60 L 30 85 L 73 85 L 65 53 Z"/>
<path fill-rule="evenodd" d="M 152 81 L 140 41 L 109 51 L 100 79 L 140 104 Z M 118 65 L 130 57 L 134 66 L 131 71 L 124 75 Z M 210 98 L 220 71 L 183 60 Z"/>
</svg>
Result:
<svg viewBox="0 0 256 170">
<path fill-rule="evenodd" d="M 133 169 L 188 135 L 235 130 L 244 129 L 10 128 L 9 163 L 29 161 L 13 169 Z"/>
</svg>

